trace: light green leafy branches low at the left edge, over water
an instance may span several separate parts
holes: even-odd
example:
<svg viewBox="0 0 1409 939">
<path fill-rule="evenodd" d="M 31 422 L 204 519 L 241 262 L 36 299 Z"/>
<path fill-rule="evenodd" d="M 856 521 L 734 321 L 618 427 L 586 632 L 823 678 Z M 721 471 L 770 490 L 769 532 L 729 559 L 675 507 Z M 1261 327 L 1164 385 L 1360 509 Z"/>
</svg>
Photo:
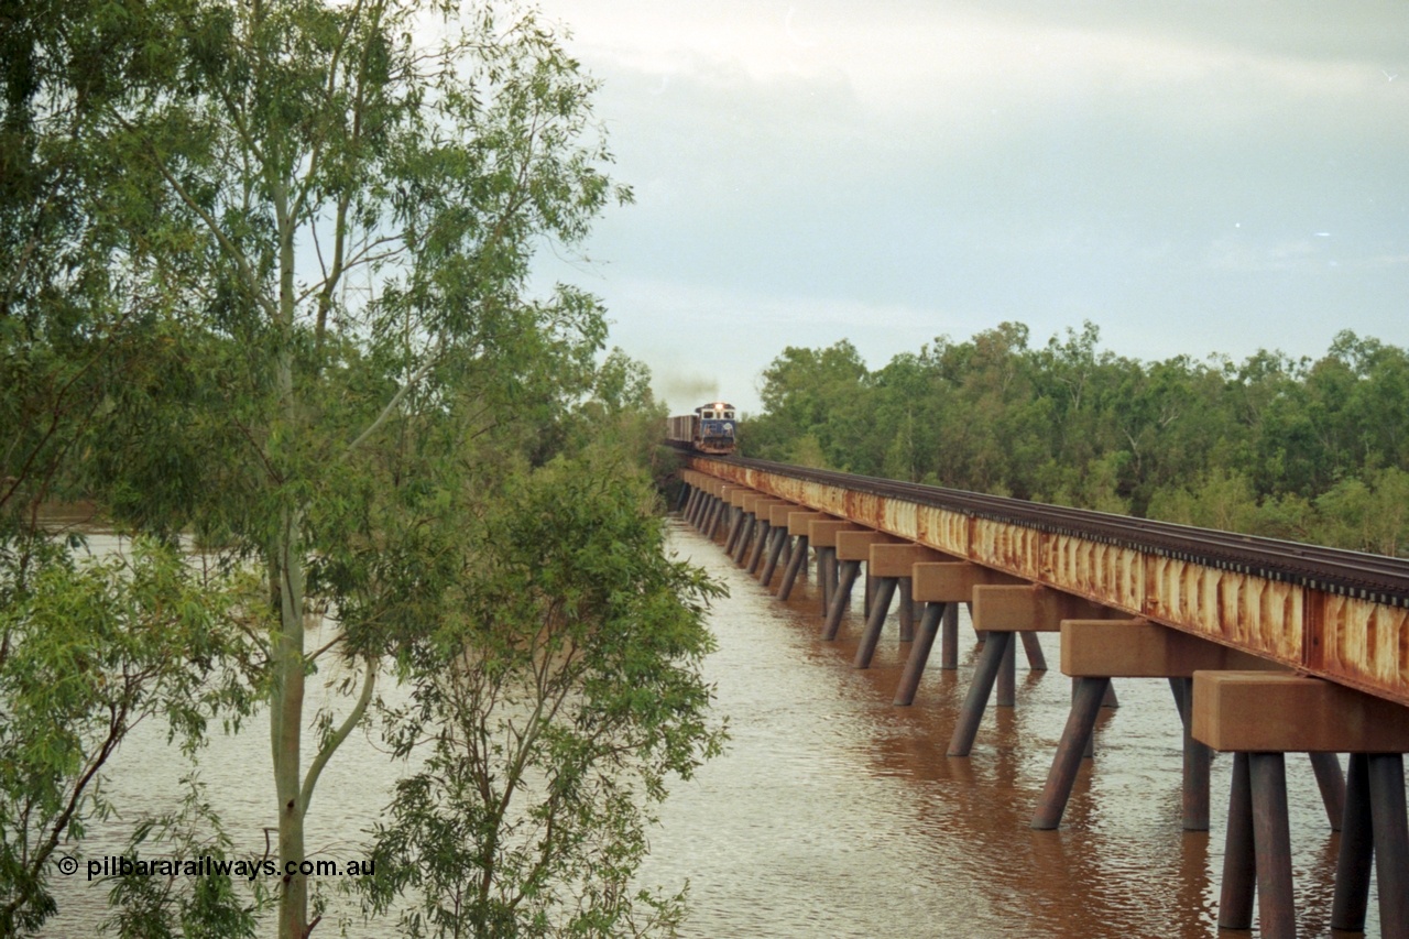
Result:
<svg viewBox="0 0 1409 939">
<path fill-rule="evenodd" d="M 108 804 L 99 785 L 128 730 L 161 718 L 189 753 L 216 715 L 248 713 L 228 589 L 147 541 L 131 557 L 52 557 L 0 606 L 0 931 L 55 911 L 55 852 Z"/>
</svg>

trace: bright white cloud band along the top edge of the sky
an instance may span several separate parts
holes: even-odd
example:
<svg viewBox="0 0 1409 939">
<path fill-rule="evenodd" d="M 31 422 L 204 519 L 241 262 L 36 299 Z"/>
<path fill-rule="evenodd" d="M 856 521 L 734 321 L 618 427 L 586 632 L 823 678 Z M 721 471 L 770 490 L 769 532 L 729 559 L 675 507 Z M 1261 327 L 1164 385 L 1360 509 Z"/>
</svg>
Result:
<svg viewBox="0 0 1409 939">
<path fill-rule="evenodd" d="M 1288 99 L 1343 97 L 1385 85 L 1378 59 L 1298 55 L 1243 42 L 1209 42 L 1146 23 L 1069 23 L 1029 11 L 964 4 L 878 3 L 550 3 L 589 63 L 679 79 L 752 82 L 841 78 L 867 107 L 964 117 L 1072 96 L 1148 104 L 1195 87 L 1231 118 L 1251 92 Z"/>
</svg>

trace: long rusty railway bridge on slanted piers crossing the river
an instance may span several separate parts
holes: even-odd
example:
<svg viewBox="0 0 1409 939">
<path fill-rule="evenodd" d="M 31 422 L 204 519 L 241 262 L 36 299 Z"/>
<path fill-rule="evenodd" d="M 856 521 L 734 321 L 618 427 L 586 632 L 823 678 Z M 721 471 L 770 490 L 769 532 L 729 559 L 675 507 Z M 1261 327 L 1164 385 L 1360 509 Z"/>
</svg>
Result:
<svg viewBox="0 0 1409 939">
<path fill-rule="evenodd" d="M 685 519 L 786 599 L 816 564 L 834 639 L 865 584 L 854 665 L 896 596 L 914 702 L 936 642 L 958 660 L 958 605 L 982 649 L 950 742 L 967 757 L 1016 650 L 1061 634 L 1072 704 L 1031 826 L 1061 823 L 1113 678 L 1164 678 L 1182 718 L 1182 826 L 1208 830 L 1213 751 L 1233 754 L 1219 926 L 1295 935 L 1285 754 L 1312 761 L 1340 832 L 1334 929 L 1360 931 L 1371 877 L 1382 935 L 1409 939 L 1409 561 L 740 457 L 682 454 Z M 864 575 L 864 577 L 862 577 Z M 1347 754 L 1343 768 L 1340 756 Z"/>
</svg>

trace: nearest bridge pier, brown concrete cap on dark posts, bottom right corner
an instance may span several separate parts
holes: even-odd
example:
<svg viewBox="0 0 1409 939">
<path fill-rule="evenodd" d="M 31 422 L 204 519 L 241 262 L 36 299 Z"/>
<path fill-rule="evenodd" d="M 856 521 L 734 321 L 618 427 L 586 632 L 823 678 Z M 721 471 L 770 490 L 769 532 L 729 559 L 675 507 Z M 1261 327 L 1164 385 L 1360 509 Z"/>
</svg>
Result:
<svg viewBox="0 0 1409 939">
<path fill-rule="evenodd" d="M 1332 928 L 1364 928 L 1372 864 L 1379 884 L 1381 935 L 1409 938 L 1403 778 L 1409 708 L 1288 673 L 1198 671 L 1192 711 L 1193 736 L 1234 754 L 1219 925 L 1248 929 L 1255 892 L 1262 935 L 1295 935 L 1284 754 L 1344 750 L 1351 754 L 1350 780 Z M 1248 876 L 1250 870 L 1255 877 Z"/>
</svg>

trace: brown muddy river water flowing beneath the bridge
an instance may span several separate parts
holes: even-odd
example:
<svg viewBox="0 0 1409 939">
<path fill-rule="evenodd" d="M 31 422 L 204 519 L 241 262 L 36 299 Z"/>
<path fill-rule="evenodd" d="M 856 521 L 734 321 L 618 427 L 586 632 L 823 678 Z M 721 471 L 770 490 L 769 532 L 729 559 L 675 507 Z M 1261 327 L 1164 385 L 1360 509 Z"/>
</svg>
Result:
<svg viewBox="0 0 1409 939">
<path fill-rule="evenodd" d="M 640 878 L 666 890 L 689 883 L 683 935 L 1248 935 L 1216 926 L 1231 760 L 1213 764 L 1213 830 L 1179 830 L 1179 720 L 1167 682 L 1116 682 L 1120 708 L 1102 712 L 1096 757 L 1062 828 L 1033 832 L 1071 694 L 1055 636 L 1044 636 L 1053 670 L 1029 673 L 1019 654 L 1017 706 L 989 708 L 972 756 L 951 759 L 974 667 L 967 619 L 960 670 L 941 671 L 936 650 L 914 706 L 896 708 L 909 647 L 893 619 L 872 667 L 857 671 L 859 598 L 840 639 L 824 643 L 812 581 L 779 603 L 693 529 L 672 522 L 671 541 L 730 589 L 710 613 L 719 650 L 706 663 L 728 750 L 675 782 Z M 263 850 L 273 818 L 266 728 L 256 718 L 201 756 L 210 801 L 241 854 Z M 114 763 L 110 795 L 128 818 L 161 811 L 178 798 L 183 766 L 161 728 L 141 728 Z M 318 784 L 310 847 L 356 857 L 399 771 L 375 732 L 354 735 Z M 1288 757 L 1288 798 L 1299 935 L 1329 935 L 1337 842 L 1301 757 Z M 123 823 L 107 825 L 85 853 L 117 853 L 124 835 Z M 90 933 L 106 914 L 103 887 L 82 873 L 59 885 L 62 914 L 45 935 Z M 1375 902 L 1372 892 L 1371 936 Z M 340 921 L 351 936 L 396 932 L 354 914 L 334 895 L 314 936 L 337 935 Z"/>
</svg>

